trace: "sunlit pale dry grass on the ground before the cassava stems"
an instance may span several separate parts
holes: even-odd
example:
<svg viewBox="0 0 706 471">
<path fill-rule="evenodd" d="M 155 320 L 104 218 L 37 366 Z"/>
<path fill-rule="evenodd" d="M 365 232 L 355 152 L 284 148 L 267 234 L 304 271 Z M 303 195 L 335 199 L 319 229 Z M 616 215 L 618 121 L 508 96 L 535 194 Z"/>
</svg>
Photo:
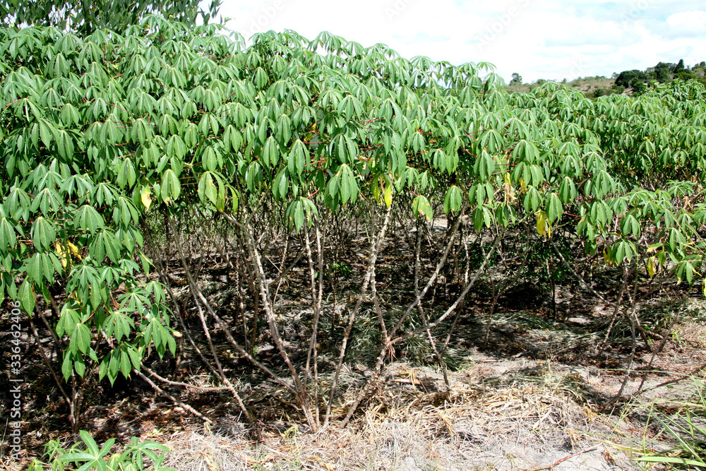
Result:
<svg viewBox="0 0 706 471">
<path fill-rule="evenodd" d="M 396 363 L 347 429 L 301 433 L 280 424 L 253 441 L 237 424 L 198 427 L 169 438 L 168 464 L 181 471 L 480 471 L 532 470 L 563 460 L 560 471 L 633 469 L 626 455 L 606 445 L 618 428 L 592 411 L 594 391 L 582 376 L 500 363 L 481 358 L 456 372 L 449 393 L 437 390 L 443 389 L 438 372 Z"/>
</svg>

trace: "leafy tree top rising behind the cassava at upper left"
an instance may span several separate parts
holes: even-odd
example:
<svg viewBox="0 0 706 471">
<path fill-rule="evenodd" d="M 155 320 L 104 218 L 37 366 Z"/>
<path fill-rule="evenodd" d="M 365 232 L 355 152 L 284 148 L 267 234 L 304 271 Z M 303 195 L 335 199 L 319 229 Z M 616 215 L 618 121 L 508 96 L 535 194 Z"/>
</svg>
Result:
<svg viewBox="0 0 706 471">
<path fill-rule="evenodd" d="M 120 32 L 150 13 L 193 25 L 215 18 L 220 0 L 200 11 L 200 0 L 0 0 L 0 26 L 54 26 L 80 35 L 108 28 Z"/>
</svg>

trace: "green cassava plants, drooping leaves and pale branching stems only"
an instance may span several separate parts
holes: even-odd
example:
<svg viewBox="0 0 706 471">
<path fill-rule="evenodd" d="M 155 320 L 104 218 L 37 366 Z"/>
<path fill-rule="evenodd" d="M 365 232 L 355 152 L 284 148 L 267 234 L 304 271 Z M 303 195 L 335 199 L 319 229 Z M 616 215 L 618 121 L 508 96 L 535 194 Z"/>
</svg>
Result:
<svg viewBox="0 0 706 471">
<path fill-rule="evenodd" d="M 455 326 L 452 314 L 504 250 L 505 237 L 528 228 L 536 232 L 528 244 L 539 237 L 553 247 L 551 267 L 599 296 L 587 271 L 597 264 L 622 270 L 618 297 L 609 299 L 615 316 L 636 318 L 638 286 L 654 293 L 669 280 L 700 278 L 702 85 L 595 101 L 556 83 L 509 95 L 486 74 L 490 64 L 404 59 L 381 44 L 363 47 L 326 32 L 311 41 L 292 31 L 258 33 L 249 47 L 222 32 L 160 16 L 120 33 L 0 30 L 0 291 L 53 336 L 61 355 L 48 352 L 46 360 L 57 369 L 75 427 L 93 370 L 111 381 L 140 371 L 169 381 L 142 362 L 152 349 L 174 354 L 172 324 L 180 322 L 222 383 L 210 390 L 229 390 L 244 417 L 253 421 L 253 412 L 222 367 L 214 323 L 317 428 L 340 398 L 337 381 L 361 304 L 372 299 L 382 333 L 369 385 L 394 345 L 417 333 L 443 362 L 439 326 L 454 318 Z M 192 216 L 198 243 L 185 240 Z M 439 216 L 448 228 L 432 241 L 423 226 Z M 167 309 L 181 308 L 159 244 L 148 246 L 160 282 L 150 276 L 148 220 L 157 221 L 153 227 L 184 269 L 205 344 Z M 349 263 L 351 233 L 365 234 L 369 249 L 357 294 L 341 314 L 336 366 L 327 371 L 333 378 L 322 388 L 318 329 L 332 286 L 316 274 Z M 390 234 L 405 234 L 416 258 L 414 295 L 401 312 L 380 303 L 376 285 Z M 470 237 L 485 251 L 474 270 Z M 566 260 L 558 238 L 584 256 Z M 420 269 L 423 244 L 435 246 L 425 261 L 431 273 Z M 213 254 L 237 276 L 234 318 L 203 294 L 200 273 Z M 311 318 L 304 352 L 293 352 L 277 300 L 300 261 Z M 450 261 L 460 294 L 443 313 L 432 312 L 429 293 Z M 258 359 L 261 329 L 283 369 Z M 349 405 L 346 422 L 364 393 Z"/>
</svg>

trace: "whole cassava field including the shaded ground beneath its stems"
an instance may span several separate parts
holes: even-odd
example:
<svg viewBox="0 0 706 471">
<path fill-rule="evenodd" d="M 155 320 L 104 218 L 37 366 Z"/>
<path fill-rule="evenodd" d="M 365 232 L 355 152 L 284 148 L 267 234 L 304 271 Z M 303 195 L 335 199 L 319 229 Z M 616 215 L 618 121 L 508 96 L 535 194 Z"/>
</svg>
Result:
<svg viewBox="0 0 706 471">
<path fill-rule="evenodd" d="M 0 383 L 38 444 L 152 394 L 253 440 L 339 430 L 402 361 L 453 403 L 470 347 L 619 371 L 607 413 L 706 292 L 700 83 L 510 94 L 490 64 L 148 16 L 0 29 L 0 88 Z M 104 470 L 113 441 L 80 438 L 64 465 Z M 121 446 L 111 469 L 162 469 Z"/>
</svg>

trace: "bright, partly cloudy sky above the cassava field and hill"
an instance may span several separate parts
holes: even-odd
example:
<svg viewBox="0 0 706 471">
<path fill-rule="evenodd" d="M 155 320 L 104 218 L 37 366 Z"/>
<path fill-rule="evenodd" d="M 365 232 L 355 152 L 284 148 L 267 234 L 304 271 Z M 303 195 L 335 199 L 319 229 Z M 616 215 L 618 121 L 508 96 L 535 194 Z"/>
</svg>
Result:
<svg viewBox="0 0 706 471">
<path fill-rule="evenodd" d="M 706 0 L 223 0 L 248 38 L 328 31 L 402 56 L 490 62 L 505 81 L 607 76 L 659 61 L 706 60 Z"/>
</svg>

